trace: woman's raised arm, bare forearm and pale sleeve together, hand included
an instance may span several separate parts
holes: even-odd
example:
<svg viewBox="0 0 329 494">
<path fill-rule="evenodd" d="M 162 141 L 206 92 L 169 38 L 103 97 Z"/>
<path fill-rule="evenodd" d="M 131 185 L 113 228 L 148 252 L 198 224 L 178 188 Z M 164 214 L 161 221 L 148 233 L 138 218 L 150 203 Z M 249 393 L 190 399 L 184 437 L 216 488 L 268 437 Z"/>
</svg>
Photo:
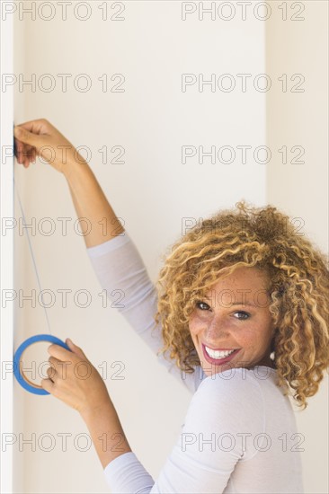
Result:
<svg viewBox="0 0 329 494">
<path fill-rule="evenodd" d="M 49 163 L 65 176 L 78 218 L 86 218 L 91 225 L 90 233 L 84 235 L 84 242 L 96 276 L 102 288 L 106 289 L 112 306 L 118 308 L 147 346 L 156 353 L 162 347 L 161 327 L 154 329 L 156 288 L 147 275 L 135 244 L 120 225 L 93 171 L 48 120 L 33 120 L 20 127 L 21 136 L 15 130 L 19 163 L 29 166 L 33 158 L 40 155 L 39 148 L 53 147 L 56 158 Z M 67 148 L 65 163 L 63 148 Z M 41 155 L 48 160 L 47 155 Z M 83 230 L 84 221 L 80 225 Z M 158 356 L 158 361 L 192 393 L 195 392 L 200 383 L 200 369 L 194 374 L 182 374 L 174 362 L 165 359 L 164 355 Z"/>
</svg>

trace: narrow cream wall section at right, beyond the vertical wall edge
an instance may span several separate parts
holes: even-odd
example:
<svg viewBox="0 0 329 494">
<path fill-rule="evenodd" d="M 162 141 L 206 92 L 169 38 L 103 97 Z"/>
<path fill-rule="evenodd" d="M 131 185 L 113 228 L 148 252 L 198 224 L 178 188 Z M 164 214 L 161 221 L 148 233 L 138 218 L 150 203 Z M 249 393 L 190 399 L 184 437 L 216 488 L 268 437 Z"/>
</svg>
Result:
<svg viewBox="0 0 329 494">
<path fill-rule="evenodd" d="M 273 150 L 300 146 L 305 163 L 291 163 L 298 150 L 281 154 L 268 167 L 268 201 L 287 211 L 300 232 L 328 252 L 328 3 L 304 2 L 301 22 L 272 16 L 266 30 L 266 70 L 273 79 L 301 74 L 304 93 L 282 92 L 276 84 L 267 99 L 267 141 Z M 288 11 L 289 12 L 289 11 Z M 293 12 L 293 11 L 290 11 Z M 295 13 L 297 10 L 295 9 Z M 288 88 L 299 79 L 289 82 Z M 308 408 L 297 412 L 298 430 L 305 436 L 302 454 L 306 492 L 328 490 L 328 376 Z"/>
</svg>

